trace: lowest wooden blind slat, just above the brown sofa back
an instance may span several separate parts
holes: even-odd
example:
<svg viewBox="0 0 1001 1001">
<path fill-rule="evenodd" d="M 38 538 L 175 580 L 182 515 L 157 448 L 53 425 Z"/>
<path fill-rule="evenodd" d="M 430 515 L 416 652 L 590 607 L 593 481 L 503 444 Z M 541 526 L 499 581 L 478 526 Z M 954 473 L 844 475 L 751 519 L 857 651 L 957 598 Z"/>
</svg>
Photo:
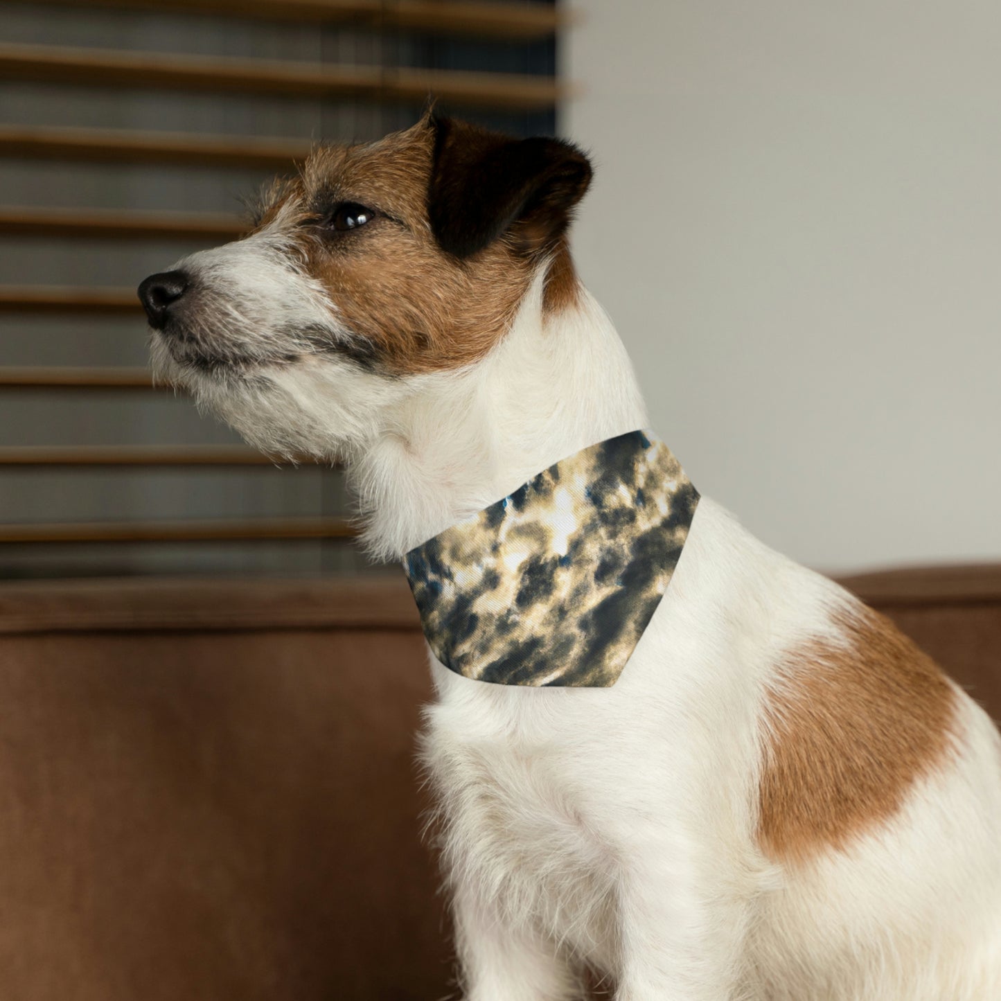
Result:
<svg viewBox="0 0 1001 1001">
<path fill-rule="evenodd" d="M 211 543 L 351 539 L 340 518 L 276 518 L 211 522 L 53 522 L 0 525 L 0 543 Z"/>
</svg>

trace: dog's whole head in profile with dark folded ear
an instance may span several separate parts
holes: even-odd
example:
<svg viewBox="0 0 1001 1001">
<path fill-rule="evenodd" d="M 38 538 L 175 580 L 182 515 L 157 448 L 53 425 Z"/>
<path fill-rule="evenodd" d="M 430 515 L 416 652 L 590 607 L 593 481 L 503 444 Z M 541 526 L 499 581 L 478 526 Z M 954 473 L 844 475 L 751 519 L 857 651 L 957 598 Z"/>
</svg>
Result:
<svg viewBox="0 0 1001 1001">
<path fill-rule="evenodd" d="M 318 147 L 247 236 L 139 286 L 157 374 L 267 449 L 349 451 L 372 407 L 482 358 L 541 267 L 552 308 L 573 298 L 590 180 L 568 143 L 430 115 Z"/>
</svg>

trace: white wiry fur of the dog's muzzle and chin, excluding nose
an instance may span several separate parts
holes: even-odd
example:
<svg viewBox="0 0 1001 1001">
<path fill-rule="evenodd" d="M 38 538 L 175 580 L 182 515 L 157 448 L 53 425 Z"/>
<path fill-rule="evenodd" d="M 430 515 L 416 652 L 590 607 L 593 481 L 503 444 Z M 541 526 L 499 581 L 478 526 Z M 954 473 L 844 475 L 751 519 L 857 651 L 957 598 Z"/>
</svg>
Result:
<svg viewBox="0 0 1001 1001">
<path fill-rule="evenodd" d="M 196 301 L 183 329 L 152 331 L 153 371 L 265 451 L 333 458 L 403 386 L 354 360 L 350 331 L 280 226 L 279 213 L 174 265 L 191 274 Z"/>
</svg>

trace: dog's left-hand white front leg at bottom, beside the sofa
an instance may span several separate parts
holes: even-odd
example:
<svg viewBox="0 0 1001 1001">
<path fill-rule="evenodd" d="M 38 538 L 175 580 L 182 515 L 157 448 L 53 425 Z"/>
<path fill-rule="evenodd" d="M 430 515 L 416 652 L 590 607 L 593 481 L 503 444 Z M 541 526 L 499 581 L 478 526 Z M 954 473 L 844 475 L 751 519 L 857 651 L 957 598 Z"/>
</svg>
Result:
<svg viewBox="0 0 1001 1001">
<path fill-rule="evenodd" d="M 579 1001 L 581 981 L 555 944 L 514 927 L 471 888 L 452 902 L 465 1001 Z"/>
</svg>

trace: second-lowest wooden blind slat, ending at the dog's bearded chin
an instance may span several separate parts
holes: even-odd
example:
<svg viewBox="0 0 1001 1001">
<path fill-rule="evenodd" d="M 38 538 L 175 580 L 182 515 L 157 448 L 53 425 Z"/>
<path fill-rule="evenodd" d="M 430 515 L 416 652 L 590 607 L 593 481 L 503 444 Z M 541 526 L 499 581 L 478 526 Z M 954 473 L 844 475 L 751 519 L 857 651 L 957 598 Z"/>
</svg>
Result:
<svg viewBox="0 0 1001 1001">
<path fill-rule="evenodd" d="M 9 445 L 0 446 L 0 466 L 59 465 L 276 465 L 239 445 Z"/>
</svg>

